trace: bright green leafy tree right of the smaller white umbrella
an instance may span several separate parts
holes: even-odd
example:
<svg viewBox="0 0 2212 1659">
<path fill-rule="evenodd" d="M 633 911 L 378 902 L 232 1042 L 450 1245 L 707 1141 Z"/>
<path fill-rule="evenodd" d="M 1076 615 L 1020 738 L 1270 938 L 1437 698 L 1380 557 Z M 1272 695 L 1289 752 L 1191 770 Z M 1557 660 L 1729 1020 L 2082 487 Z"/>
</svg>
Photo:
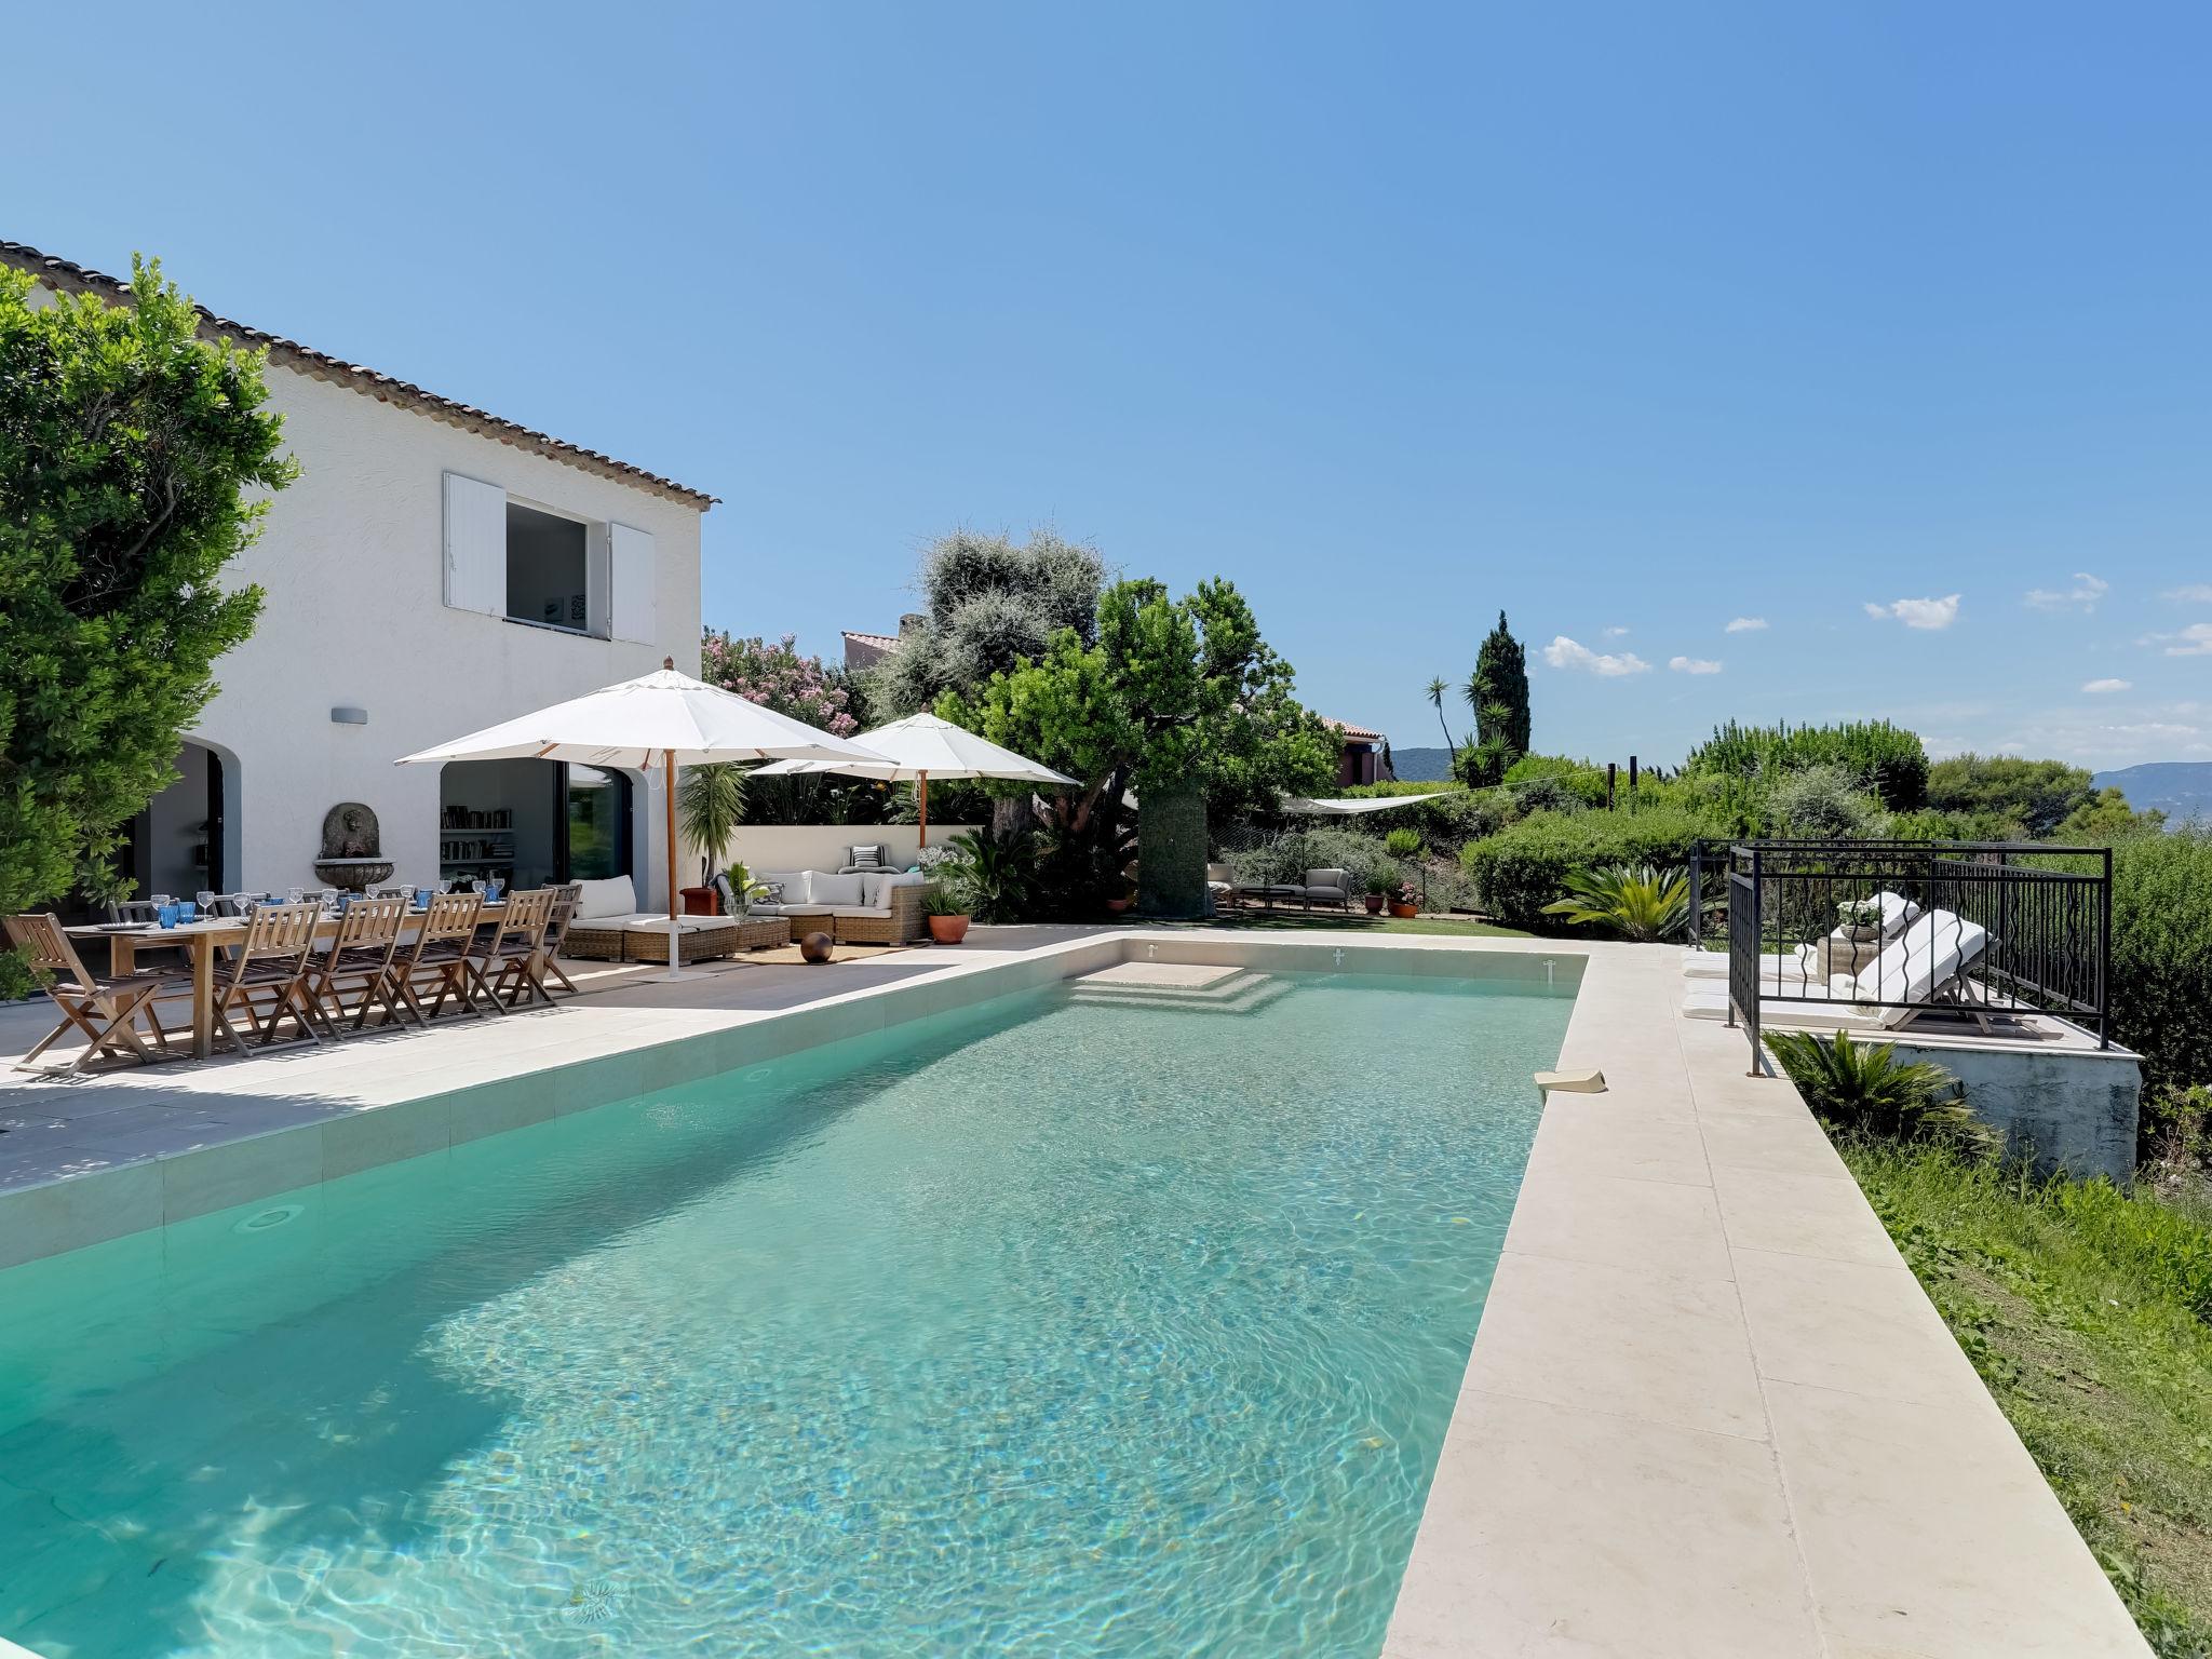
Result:
<svg viewBox="0 0 2212 1659">
<path fill-rule="evenodd" d="M 1334 732 L 1294 697 L 1294 677 L 1230 582 L 1183 599 L 1159 582 L 1099 597 L 1097 644 L 1075 628 L 1037 661 L 995 672 L 938 714 L 1084 781 L 1048 807 L 1044 885 L 1084 907 L 1121 891 L 1124 796 L 1144 803 L 1141 874 L 1152 905 L 1203 902 L 1208 816 L 1272 807 L 1336 776 Z M 1197 812 L 1177 810 L 1197 796 Z M 1192 843 L 1192 816 L 1199 834 Z"/>
</svg>

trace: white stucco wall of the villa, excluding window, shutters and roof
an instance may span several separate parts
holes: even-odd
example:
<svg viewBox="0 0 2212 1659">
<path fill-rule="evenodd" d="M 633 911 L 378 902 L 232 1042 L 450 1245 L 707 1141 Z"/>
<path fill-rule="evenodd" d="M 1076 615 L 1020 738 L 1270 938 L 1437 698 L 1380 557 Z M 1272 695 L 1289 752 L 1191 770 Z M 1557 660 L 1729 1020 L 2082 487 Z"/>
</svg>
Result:
<svg viewBox="0 0 2212 1659">
<path fill-rule="evenodd" d="M 323 814 L 365 801 L 398 880 L 438 874 L 438 768 L 394 765 L 434 743 L 630 679 L 675 657 L 699 672 L 699 509 L 511 449 L 414 409 L 270 369 L 303 476 L 232 566 L 268 599 L 252 639 L 217 661 L 197 741 L 226 757 L 226 878 L 314 883 Z M 447 471 L 597 522 L 650 531 L 659 641 L 529 628 L 445 606 Z M 367 726 L 336 726 L 334 706 Z M 661 790 L 639 779 L 641 891 L 664 880 Z"/>
</svg>

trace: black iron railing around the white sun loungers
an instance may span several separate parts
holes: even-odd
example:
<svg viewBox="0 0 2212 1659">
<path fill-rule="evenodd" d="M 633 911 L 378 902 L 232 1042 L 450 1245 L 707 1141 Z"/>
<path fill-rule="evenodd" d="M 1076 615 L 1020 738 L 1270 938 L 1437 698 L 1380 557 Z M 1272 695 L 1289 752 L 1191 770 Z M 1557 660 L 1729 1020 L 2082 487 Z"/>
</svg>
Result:
<svg viewBox="0 0 2212 1659">
<path fill-rule="evenodd" d="M 1692 883 L 1714 863 L 1728 872 L 1728 1013 L 1754 1068 L 1774 1002 L 1840 1004 L 1876 1026 L 2046 1013 L 2110 1044 L 2110 847 L 1747 841 L 1701 845 Z"/>
</svg>

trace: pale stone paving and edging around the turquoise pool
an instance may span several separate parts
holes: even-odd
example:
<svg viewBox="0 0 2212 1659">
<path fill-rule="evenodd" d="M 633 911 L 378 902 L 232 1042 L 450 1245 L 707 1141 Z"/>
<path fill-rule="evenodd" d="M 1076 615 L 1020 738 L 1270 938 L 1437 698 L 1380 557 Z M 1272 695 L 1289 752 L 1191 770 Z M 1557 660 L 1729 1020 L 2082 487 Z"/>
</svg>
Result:
<svg viewBox="0 0 2212 1659">
<path fill-rule="evenodd" d="M 2148 1652 L 1796 1093 L 1743 1075 L 1739 1033 L 1679 1015 L 1677 951 L 1121 933 L 622 971 L 513 1020 L 0 1084 L 0 1265 L 111 1237 L 117 1210 L 177 1221 L 591 1106 L 606 1055 L 646 1048 L 617 1064 L 653 1088 L 675 1037 L 774 1020 L 752 1035 L 787 1051 L 869 1029 L 869 1002 L 922 980 L 1042 982 L 1135 947 L 1261 969 L 1343 947 L 1352 971 L 1586 956 L 1562 1066 L 1604 1068 L 1610 1093 L 1544 1113 L 1387 1659 Z M 0 1051 L 46 1024 L 0 1011 Z M 498 1086 L 549 1066 L 586 1082 Z"/>
</svg>

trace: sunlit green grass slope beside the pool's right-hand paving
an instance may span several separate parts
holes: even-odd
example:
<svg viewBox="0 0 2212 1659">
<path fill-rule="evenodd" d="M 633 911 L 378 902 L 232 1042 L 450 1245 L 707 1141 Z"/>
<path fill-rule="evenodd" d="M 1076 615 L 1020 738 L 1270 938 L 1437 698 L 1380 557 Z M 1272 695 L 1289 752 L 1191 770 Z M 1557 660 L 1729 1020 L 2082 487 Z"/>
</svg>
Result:
<svg viewBox="0 0 2212 1659">
<path fill-rule="evenodd" d="M 2212 1208 L 1840 1139 L 2161 1659 L 2212 1659 Z"/>
</svg>

